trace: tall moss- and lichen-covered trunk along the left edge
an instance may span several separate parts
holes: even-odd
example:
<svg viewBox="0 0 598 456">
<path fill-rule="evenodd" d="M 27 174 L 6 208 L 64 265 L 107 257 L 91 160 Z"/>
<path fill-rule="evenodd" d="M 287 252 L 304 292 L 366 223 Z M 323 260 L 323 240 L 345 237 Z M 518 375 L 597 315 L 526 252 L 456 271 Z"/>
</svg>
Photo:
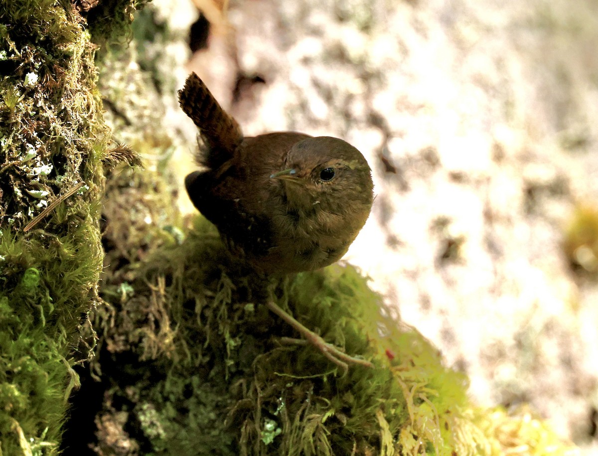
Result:
<svg viewBox="0 0 598 456">
<path fill-rule="evenodd" d="M 0 17 L 0 454 L 50 455 L 93 345 L 109 132 L 71 2 L 0 2 Z"/>
</svg>

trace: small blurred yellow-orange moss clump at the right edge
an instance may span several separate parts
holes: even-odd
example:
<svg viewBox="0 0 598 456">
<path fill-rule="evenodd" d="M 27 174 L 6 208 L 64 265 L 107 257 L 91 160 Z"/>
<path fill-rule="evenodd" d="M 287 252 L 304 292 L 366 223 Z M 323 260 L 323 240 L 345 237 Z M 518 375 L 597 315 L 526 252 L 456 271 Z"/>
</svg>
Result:
<svg viewBox="0 0 598 456">
<path fill-rule="evenodd" d="M 574 267 L 590 273 L 598 271 L 598 208 L 581 204 L 575 208 L 563 243 L 565 254 Z"/>
</svg>

